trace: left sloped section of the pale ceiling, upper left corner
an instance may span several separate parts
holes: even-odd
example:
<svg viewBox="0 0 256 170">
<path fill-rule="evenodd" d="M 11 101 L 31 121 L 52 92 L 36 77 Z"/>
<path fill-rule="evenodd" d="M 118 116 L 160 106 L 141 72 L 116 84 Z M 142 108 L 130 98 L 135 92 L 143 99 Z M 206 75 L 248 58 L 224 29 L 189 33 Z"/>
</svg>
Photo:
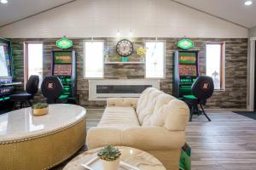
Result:
<svg viewBox="0 0 256 170">
<path fill-rule="evenodd" d="M 20 20 L 37 14 L 49 8 L 54 8 L 71 0 L 8 0 L 9 3 L 0 3 L 0 26 L 15 20 Z"/>
</svg>

